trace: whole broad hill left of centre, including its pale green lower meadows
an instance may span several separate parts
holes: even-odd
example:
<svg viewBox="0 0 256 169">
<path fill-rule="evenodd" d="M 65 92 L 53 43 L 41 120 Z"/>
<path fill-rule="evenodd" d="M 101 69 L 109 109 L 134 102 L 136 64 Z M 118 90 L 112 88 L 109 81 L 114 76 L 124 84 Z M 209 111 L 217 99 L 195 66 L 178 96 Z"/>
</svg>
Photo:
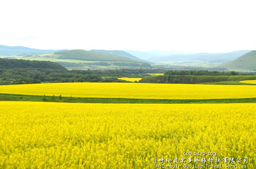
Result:
<svg viewBox="0 0 256 169">
<path fill-rule="evenodd" d="M 79 60 L 79 58 L 84 60 Z M 151 65 L 148 63 L 138 62 L 129 58 L 124 58 L 124 57 L 120 57 L 112 54 L 105 54 L 101 52 L 84 51 L 84 50 L 71 50 L 71 51 L 55 52 L 55 53 L 41 54 L 41 55 L 28 55 L 23 57 L 19 56 L 19 57 L 16 57 L 16 59 L 57 62 L 68 69 L 109 69 L 109 68 L 119 69 L 119 68 L 151 67 Z M 88 59 L 88 60 L 85 60 L 85 59 Z M 98 60 L 98 59 L 105 59 L 105 60 Z"/>
</svg>

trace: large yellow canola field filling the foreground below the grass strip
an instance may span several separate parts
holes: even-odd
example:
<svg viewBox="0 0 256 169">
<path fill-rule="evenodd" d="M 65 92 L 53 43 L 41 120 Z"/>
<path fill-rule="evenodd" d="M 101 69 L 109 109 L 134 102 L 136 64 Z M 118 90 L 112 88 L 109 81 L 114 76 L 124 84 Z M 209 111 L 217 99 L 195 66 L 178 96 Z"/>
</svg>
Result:
<svg viewBox="0 0 256 169">
<path fill-rule="evenodd" d="M 254 169 L 255 110 L 256 103 L 1 101 L 0 168 L 140 169 L 156 168 L 162 157 L 165 165 L 173 165 L 178 158 L 182 166 L 181 158 L 186 163 L 189 157 L 206 158 L 209 165 L 210 157 L 221 161 L 226 157 L 229 165 L 229 158 L 236 162 L 247 157 L 248 163 L 241 160 L 241 165 Z M 183 156 L 184 152 L 217 155 Z M 172 163 L 167 163 L 167 158 Z M 225 165 L 223 161 L 219 164 Z"/>
</svg>

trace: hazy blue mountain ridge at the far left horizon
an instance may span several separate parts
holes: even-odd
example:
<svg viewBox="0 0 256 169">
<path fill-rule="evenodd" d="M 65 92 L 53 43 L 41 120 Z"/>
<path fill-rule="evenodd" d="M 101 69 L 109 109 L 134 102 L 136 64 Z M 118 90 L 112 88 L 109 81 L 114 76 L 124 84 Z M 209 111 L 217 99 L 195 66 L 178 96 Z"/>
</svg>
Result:
<svg viewBox="0 0 256 169">
<path fill-rule="evenodd" d="M 63 51 L 63 50 L 41 50 L 41 49 L 33 49 L 33 48 L 23 47 L 23 46 L 0 45 L 0 56 L 37 55 L 37 54 L 54 53 L 54 52 Z"/>
</svg>

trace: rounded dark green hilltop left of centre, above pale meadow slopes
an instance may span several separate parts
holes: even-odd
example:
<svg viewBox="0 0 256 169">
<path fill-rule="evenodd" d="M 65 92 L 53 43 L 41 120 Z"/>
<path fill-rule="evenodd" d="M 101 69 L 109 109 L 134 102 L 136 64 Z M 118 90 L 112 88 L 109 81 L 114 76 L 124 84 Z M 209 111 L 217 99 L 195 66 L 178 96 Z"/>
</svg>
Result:
<svg viewBox="0 0 256 169">
<path fill-rule="evenodd" d="M 108 61 L 124 61 L 124 62 L 136 62 L 135 60 L 116 56 L 112 54 L 85 51 L 85 50 L 67 50 L 55 52 L 54 54 L 60 55 L 58 59 L 77 59 L 77 60 L 108 60 Z"/>
</svg>

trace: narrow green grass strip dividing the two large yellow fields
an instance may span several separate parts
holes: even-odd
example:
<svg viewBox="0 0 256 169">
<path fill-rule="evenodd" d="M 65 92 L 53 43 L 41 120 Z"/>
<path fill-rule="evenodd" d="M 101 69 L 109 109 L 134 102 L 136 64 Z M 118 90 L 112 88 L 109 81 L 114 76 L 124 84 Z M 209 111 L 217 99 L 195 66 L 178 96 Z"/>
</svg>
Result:
<svg viewBox="0 0 256 169">
<path fill-rule="evenodd" d="M 0 94 L 0 101 L 65 102 L 65 103 L 256 103 L 256 98 L 241 99 L 126 99 L 126 98 L 71 98 L 35 95 Z"/>
</svg>

